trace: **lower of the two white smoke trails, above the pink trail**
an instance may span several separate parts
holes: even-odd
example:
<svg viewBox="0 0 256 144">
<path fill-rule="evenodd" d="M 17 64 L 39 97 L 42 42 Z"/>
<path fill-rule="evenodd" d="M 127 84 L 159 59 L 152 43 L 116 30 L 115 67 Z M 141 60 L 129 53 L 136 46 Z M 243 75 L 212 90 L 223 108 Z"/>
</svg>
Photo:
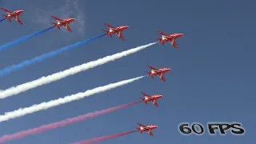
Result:
<svg viewBox="0 0 256 144">
<path fill-rule="evenodd" d="M 0 122 L 8 121 L 11 118 L 22 117 L 23 115 L 32 114 L 40 110 L 47 110 L 47 109 L 50 109 L 51 107 L 59 106 L 68 102 L 77 101 L 79 99 L 89 97 L 90 95 L 93 95 L 93 94 L 99 94 L 107 90 L 112 90 L 119 86 L 125 86 L 131 82 L 135 82 L 144 77 L 145 76 L 141 76 L 137 78 L 126 79 L 121 82 L 110 83 L 106 86 L 99 86 L 92 90 L 86 90 L 85 92 L 80 92 L 78 94 L 68 95 L 64 98 L 58 98 L 55 100 L 51 100 L 49 102 L 42 102 L 40 104 L 34 104 L 33 106 L 30 106 L 30 107 L 20 108 L 18 110 L 6 112 L 4 115 L 0 115 Z"/>
</svg>

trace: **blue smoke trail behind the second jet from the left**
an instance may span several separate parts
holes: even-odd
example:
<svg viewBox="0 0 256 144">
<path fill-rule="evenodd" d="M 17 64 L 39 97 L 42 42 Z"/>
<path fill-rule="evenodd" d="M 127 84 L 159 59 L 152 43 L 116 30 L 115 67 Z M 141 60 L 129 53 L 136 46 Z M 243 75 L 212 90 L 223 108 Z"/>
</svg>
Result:
<svg viewBox="0 0 256 144">
<path fill-rule="evenodd" d="M 18 44 L 18 43 L 20 43 L 20 42 L 23 42 L 23 41 L 25 41 L 25 40 L 27 40 L 27 39 L 29 39 L 29 38 L 33 38 L 33 37 L 37 36 L 38 34 L 42 34 L 42 33 L 46 32 L 46 31 L 48 31 L 48 30 L 50 30 L 50 29 L 52 29 L 52 28 L 54 28 L 54 26 L 49 27 L 49 28 L 47 28 L 47 29 L 45 29 L 45 30 L 40 30 L 40 31 L 38 31 L 38 32 L 35 32 L 34 34 L 30 34 L 30 35 L 27 35 L 27 36 L 25 36 L 25 37 L 18 38 L 17 40 L 14 40 L 14 41 L 12 41 L 12 42 L 7 43 L 6 45 L 2 45 L 2 46 L 0 46 L 0 51 L 1 51 L 1 50 L 5 50 L 6 48 L 8 48 L 8 47 L 10 47 L 10 46 L 14 46 L 14 45 L 16 45 L 16 44 Z"/>
</svg>

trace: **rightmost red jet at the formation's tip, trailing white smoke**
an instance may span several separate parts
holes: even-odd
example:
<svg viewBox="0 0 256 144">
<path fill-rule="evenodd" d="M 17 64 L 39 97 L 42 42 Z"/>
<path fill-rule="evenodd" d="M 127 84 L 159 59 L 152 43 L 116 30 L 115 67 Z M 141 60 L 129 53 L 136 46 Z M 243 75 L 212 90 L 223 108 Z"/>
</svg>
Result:
<svg viewBox="0 0 256 144">
<path fill-rule="evenodd" d="M 176 38 L 180 38 L 183 36 L 183 34 L 165 34 L 161 31 L 158 30 L 158 33 L 162 35 L 162 38 L 157 38 L 159 42 L 162 43 L 162 45 L 165 45 L 165 42 L 170 42 L 171 45 L 174 46 L 174 48 L 178 48 L 177 44 L 176 44 Z"/>
</svg>

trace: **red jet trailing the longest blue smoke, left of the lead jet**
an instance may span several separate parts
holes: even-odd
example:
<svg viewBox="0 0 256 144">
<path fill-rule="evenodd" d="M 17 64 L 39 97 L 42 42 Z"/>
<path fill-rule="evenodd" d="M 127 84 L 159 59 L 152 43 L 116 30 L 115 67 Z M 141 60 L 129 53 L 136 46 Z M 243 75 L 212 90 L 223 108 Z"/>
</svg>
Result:
<svg viewBox="0 0 256 144">
<path fill-rule="evenodd" d="M 106 32 L 106 34 L 108 34 L 110 36 L 110 38 L 112 38 L 112 34 L 117 34 L 119 38 L 121 38 L 123 41 L 125 40 L 125 38 L 123 38 L 122 36 L 122 31 L 126 30 L 129 28 L 129 26 L 118 26 L 118 27 L 114 27 L 114 26 L 110 26 L 107 23 L 104 23 L 108 28 L 110 28 L 109 31 L 107 30 L 103 30 Z"/>
</svg>

